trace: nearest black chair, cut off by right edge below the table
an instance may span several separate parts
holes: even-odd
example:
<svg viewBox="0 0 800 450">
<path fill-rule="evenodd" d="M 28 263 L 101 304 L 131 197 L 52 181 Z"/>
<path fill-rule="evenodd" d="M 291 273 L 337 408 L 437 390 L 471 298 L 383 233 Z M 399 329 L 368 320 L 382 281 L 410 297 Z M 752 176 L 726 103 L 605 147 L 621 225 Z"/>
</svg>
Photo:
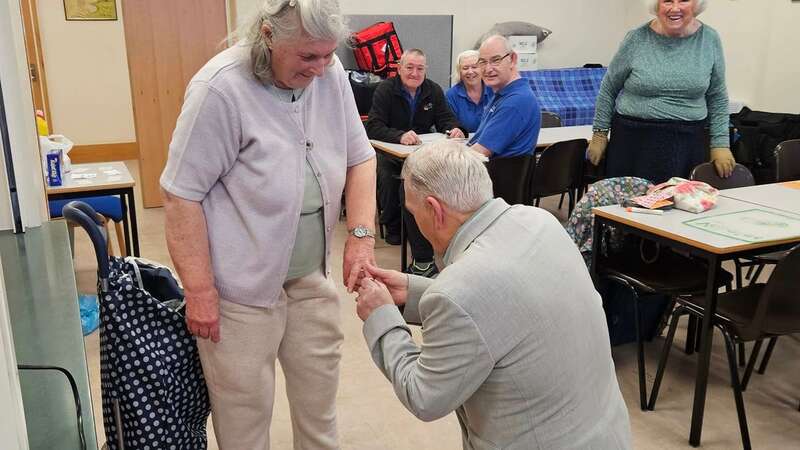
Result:
<svg viewBox="0 0 800 450">
<path fill-rule="evenodd" d="M 742 391 L 747 387 L 763 339 L 800 332 L 800 302 L 797 301 L 797 289 L 800 287 L 800 283 L 798 280 L 800 280 L 800 246 L 791 250 L 778 263 L 766 284 L 753 283 L 742 289 L 719 294 L 717 297 L 717 313 L 712 323 L 725 338 L 731 387 L 736 401 L 736 412 L 744 448 L 751 448 L 751 446 Z M 679 306 L 672 313 L 672 323 L 658 363 L 653 391 L 648 403 L 650 410 L 655 409 L 658 389 L 664 377 L 664 369 L 672 347 L 672 339 L 675 337 L 678 317 L 682 314 L 691 314 L 702 319 L 705 312 L 706 299 L 703 295 L 680 297 L 678 303 Z M 755 345 L 744 376 L 740 381 L 736 366 L 735 344 L 750 341 L 755 341 Z"/>
</svg>

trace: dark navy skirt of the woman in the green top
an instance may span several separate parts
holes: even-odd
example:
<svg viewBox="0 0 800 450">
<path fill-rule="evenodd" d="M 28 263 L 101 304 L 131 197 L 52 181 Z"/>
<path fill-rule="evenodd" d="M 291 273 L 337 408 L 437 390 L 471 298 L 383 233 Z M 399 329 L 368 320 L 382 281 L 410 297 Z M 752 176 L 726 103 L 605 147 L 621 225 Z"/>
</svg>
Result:
<svg viewBox="0 0 800 450">
<path fill-rule="evenodd" d="M 706 120 L 648 120 L 614 114 L 606 177 L 639 177 L 654 184 L 689 178 L 708 161 Z"/>
</svg>

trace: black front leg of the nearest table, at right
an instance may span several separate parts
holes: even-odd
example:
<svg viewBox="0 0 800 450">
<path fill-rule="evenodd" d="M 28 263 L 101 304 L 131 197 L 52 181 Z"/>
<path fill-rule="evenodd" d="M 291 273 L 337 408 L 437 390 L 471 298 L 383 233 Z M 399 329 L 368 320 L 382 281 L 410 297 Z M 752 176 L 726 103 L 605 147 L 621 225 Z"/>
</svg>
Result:
<svg viewBox="0 0 800 450">
<path fill-rule="evenodd" d="M 700 445 L 703 431 L 703 413 L 706 405 L 706 388 L 708 387 L 708 370 L 711 363 L 711 348 L 714 339 L 714 327 L 711 323 L 717 312 L 717 272 L 720 260 L 716 255 L 708 259 L 708 279 L 706 284 L 706 310 L 700 329 L 700 354 L 697 358 L 697 378 L 694 386 L 694 405 L 692 407 L 692 427 L 689 432 L 689 444 Z"/>
</svg>

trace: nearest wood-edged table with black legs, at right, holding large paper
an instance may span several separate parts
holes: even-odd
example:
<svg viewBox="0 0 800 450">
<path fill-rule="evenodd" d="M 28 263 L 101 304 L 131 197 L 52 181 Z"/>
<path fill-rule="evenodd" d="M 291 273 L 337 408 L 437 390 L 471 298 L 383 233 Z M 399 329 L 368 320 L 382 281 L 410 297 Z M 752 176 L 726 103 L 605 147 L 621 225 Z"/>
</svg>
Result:
<svg viewBox="0 0 800 450">
<path fill-rule="evenodd" d="M 728 192 L 728 191 L 723 191 Z M 689 434 L 689 443 L 693 446 L 700 445 L 700 434 L 703 426 L 703 412 L 705 408 L 706 388 L 708 384 L 709 362 L 711 359 L 711 344 L 713 329 L 712 317 L 717 310 L 717 272 L 724 260 L 742 256 L 751 256 L 771 251 L 783 250 L 800 242 L 800 224 L 790 228 L 787 237 L 766 242 L 744 242 L 731 237 L 714 234 L 702 229 L 686 225 L 684 221 L 735 213 L 758 208 L 783 216 L 789 216 L 787 209 L 791 205 L 774 202 L 781 208 L 769 208 L 755 205 L 728 197 L 720 197 L 717 206 L 703 214 L 693 214 L 680 210 L 671 210 L 662 216 L 637 214 L 626 212 L 619 205 L 594 208 L 595 214 L 594 235 L 592 242 L 592 275 L 597 279 L 600 251 L 601 229 L 607 225 L 621 228 L 627 233 L 635 234 L 652 240 L 667 247 L 672 247 L 687 252 L 698 258 L 708 261 L 708 276 L 706 282 L 706 311 L 703 314 L 701 331 L 701 349 L 697 364 L 697 378 L 695 380 L 694 404 L 692 408 L 692 423 Z M 800 221 L 800 215 L 790 215 Z"/>
</svg>

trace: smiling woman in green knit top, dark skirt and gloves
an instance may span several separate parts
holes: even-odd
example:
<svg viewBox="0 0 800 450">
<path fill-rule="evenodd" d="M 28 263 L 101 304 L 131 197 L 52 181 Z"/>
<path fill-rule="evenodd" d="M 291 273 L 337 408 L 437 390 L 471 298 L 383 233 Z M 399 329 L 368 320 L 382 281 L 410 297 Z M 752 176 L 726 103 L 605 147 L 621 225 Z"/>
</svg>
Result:
<svg viewBox="0 0 800 450">
<path fill-rule="evenodd" d="M 709 159 L 708 127 L 710 160 L 727 177 L 736 162 L 728 138 L 722 44 L 696 18 L 706 1 L 650 3 L 656 19 L 625 36 L 603 78 L 589 159 L 597 165 L 608 146 L 606 176 L 653 183 L 688 177 Z"/>
</svg>

